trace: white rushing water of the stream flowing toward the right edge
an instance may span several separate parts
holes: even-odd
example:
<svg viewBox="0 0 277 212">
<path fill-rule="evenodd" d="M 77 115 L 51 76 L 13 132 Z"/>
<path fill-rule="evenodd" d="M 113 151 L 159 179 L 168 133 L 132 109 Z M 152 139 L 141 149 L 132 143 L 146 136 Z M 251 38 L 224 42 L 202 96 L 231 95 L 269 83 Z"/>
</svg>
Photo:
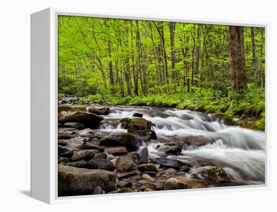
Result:
<svg viewBox="0 0 277 212">
<path fill-rule="evenodd" d="M 98 107 L 98 106 L 96 106 Z M 99 106 L 103 107 L 103 106 Z M 195 173 L 201 169 L 201 162 L 222 167 L 230 180 L 238 185 L 264 184 L 265 181 L 265 132 L 238 126 L 227 126 L 216 115 L 203 114 L 175 108 L 108 106 L 111 109 L 105 120 L 117 121 L 132 118 L 136 112 L 152 121 L 158 139 L 144 142 L 151 157 L 158 157 L 157 145 L 177 141 L 183 144 L 180 156 L 169 156 L 185 162 L 198 161 Z M 124 132 L 121 124 L 114 127 L 102 124 L 100 130 L 111 133 Z M 188 137 L 205 140 L 202 146 L 185 145 Z M 142 147 L 141 147 L 142 148 Z M 203 165 L 202 165 L 203 166 Z M 193 166 L 195 167 L 195 166 Z"/>
</svg>

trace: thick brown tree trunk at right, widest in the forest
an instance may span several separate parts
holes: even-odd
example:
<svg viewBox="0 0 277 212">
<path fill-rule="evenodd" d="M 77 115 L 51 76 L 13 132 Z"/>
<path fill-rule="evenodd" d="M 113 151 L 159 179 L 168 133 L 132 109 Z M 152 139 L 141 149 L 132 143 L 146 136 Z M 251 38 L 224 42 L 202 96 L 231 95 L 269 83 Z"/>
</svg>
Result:
<svg viewBox="0 0 277 212">
<path fill-rule="evenodd" d="M 230 81 L 232 91 L 247 88 L 243 49 L 243 27 L 229 26 Z"/>
</svg>

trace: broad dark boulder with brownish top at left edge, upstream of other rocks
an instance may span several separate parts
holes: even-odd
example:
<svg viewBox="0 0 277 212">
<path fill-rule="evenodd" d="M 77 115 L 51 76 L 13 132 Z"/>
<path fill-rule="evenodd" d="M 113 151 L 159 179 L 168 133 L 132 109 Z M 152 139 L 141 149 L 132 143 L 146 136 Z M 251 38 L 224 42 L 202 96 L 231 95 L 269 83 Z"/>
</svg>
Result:
<svg viewBox="0 0 277 212">
<path fill-rule="evenodd" d="M 86 127 L 96 128 L 100 121 L 104 118 L 89 112 L 76 111 L 73 113 L 66 113 L 58 118 L 58 122 L 64 124 L 66 122 L 77 122 L 84 124 Z"/>
</svg>

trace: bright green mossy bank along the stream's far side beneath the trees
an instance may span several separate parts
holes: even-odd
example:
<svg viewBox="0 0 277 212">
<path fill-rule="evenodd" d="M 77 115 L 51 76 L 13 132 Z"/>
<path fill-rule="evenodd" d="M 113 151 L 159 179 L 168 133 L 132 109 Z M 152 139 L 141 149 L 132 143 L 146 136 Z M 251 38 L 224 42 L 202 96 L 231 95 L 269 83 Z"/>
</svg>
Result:
<svg viewBox="0 0 277 212">
<path fill-rule="evenodd" d="M 62 96 L 64 95 L 59 95 L 59 97 Z M 132 97 L 96 94 L 78 98 L 76 103 L 177 107 L 218 114 L 228 125 L 239 125 L 257 130 L 265 129 L 265 90 L 264 88 L 255 88 L 251 84 L 243 93 L 229 92 L 227 95 L 212 89 L 197 89 L 194 93 Z"/>
</svg>

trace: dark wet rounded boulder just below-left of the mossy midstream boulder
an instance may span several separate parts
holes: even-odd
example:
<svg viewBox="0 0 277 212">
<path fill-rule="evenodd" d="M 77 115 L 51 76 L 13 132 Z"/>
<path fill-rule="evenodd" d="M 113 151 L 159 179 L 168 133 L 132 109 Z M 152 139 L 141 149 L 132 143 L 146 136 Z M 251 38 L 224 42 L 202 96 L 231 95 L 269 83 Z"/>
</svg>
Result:
<svg viewBox="0 0 277 212">
<path fill-rule="evenodd" d="M 101 146 L 123 146 L 128 149 L 136 148 L 137 143 L 134 135 L 126 132 L 109 135 L 100 139 Z"/>
</svg>

